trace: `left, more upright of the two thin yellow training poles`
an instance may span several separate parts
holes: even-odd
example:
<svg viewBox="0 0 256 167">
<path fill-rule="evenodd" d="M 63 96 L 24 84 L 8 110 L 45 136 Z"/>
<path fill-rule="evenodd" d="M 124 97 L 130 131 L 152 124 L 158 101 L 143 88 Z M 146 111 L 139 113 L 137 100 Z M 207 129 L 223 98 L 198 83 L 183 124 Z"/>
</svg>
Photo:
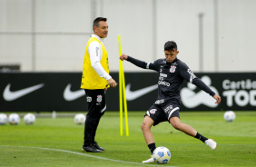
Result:
<svg viewBox="0 0 256 167">
<path fill-rule="evenodd" d="M 118 44 L 119 44 L 119 56 L 122 54 L 121 52 L 121 39 L 120 35 L 118 35 Z M 120 112 L 120 135 L 123 136 L 123 92 L 122 92 L 122 67 L 123 62 L 119 59 L 119 112 Z"/>
</svg>

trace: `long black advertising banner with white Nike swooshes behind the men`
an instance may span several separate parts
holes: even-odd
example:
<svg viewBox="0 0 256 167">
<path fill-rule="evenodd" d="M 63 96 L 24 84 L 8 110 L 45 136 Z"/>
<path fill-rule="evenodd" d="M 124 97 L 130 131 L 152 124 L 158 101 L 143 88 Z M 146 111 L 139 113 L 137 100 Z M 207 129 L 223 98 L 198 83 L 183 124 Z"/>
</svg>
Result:
<svg viewBox="0 0 256 167">
<path fill-rule="evenodd" d="M 111 75 L 118 82 L 118 73 Z M 216 104 L 212 96 L 184 81 L 181 111 L 255 111 L 256 74 L 195 75 L 213 92 L 221 95 L 222 103 Z M 0 111 L 87 111 L 87 101 L 90 99 L 86 99 L 84 90 L 80 89 L 81 77 L 82 73 L 1 73 Z M 157 86 L 162 84 L 160 77 L 157 73 L 125 73 L 129 111 L 147 111 L 153 103 L 164 102 L 156 101 Z M 106 91 L 108 111 L 119 111 L 118 91 L 118 88 Z"/>
</svg>

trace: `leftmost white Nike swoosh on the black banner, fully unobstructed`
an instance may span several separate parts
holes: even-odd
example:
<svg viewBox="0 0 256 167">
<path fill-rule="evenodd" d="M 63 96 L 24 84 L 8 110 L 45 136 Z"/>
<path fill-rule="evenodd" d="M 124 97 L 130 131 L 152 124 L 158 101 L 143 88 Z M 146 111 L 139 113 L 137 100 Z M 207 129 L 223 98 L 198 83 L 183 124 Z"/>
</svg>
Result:
<svg viewBox="0 0 256 167">
<path fill-rule="evenodd" d="M 5 87 L 3 96 L 4 96 L 5 101 L 14 101 L 22 96 L 25 96 L 28 93 L 32 93 L 35 90 L 42 88 L 43 86 L 44 86 L 44 83 L 41 83 L 41 84 L 37 84 L 37 85 L 31 86 L 31 87 L 27 87 L 27 88 L 19 90 L 19 91 L 12 92 L 10 90 L 11 83 L 9 83 Z"/>
</svg>

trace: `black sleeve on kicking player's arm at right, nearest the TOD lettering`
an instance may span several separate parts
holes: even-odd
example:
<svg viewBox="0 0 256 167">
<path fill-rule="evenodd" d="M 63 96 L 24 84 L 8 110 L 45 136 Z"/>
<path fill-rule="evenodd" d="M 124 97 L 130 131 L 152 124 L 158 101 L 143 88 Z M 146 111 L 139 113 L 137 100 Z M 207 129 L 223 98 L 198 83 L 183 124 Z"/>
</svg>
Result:
<svg viewBox="0 0 256 167">
<path fill-rule="evenodd" d="M 207 86 L 205 83 L 203 83 L 200 78 L 198 78 L 195 74 L 193 74 L 192 70 L 186 64 L 181 64 L 180 73 L 181 73 L 182 77 L 187 82 L 190 82 L 190 83 L 196 85 L 205 93 L 209 93 L 212 96 L 215 95 L 215 93 L 212 91 L 212 89 L 210 89 L 209 86 Z"/>
</svg>

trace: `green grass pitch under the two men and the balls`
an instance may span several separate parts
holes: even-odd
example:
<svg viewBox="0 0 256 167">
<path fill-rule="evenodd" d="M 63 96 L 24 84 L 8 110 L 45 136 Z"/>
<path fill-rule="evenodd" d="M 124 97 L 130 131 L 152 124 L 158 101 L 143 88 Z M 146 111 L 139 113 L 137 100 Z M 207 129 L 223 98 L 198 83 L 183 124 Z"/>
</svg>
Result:
<svg viewBox="0 0 256 167">
<path fill-rule="evenodd" d="M 181 112 L 182 123 L 218 142 L 215 151 L 167 122 L 153 127 L 156 146 L 171 151 L 167 164 L 142 163 L 151 155 L 141 130 L 144 113 L 128 113 L 127 137 L 124 126 L 120 136 L 119 112 L 106 112 L 96 134 L 105 148 L 101 153 L 81 151 L 84 124 L 75 124 L 74 117 L 37 117 L 32 125 L 21 118 L 18 125 L 0 125 L 0 166 L 256 166 L 256 112 L 235 112 L 232 123 L 223 120 L 224 112 Z"/>
</svg>

